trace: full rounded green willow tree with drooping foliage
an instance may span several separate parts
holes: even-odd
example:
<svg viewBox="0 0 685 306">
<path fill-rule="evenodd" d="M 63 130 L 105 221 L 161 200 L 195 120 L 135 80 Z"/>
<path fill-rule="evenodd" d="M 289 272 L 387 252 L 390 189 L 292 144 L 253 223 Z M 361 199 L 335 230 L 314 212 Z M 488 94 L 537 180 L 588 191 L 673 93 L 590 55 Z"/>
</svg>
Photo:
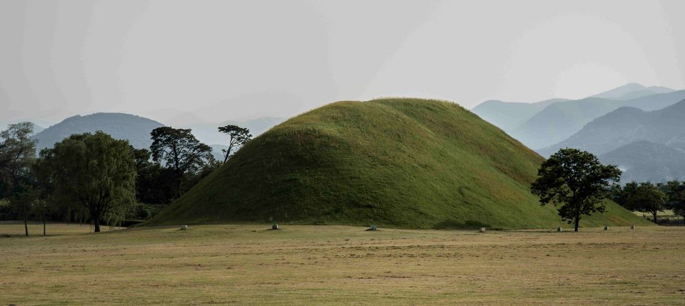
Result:
<svg viewBox="0 0 685 306">
<path fill-rule="evenodd" d="M 80 220 L 117 224 L 134 204 L 136 168 L 128 141 L 104 132 L 73 134 L 41 152 L 51 176 L 54 200 Z"/>
</svg>

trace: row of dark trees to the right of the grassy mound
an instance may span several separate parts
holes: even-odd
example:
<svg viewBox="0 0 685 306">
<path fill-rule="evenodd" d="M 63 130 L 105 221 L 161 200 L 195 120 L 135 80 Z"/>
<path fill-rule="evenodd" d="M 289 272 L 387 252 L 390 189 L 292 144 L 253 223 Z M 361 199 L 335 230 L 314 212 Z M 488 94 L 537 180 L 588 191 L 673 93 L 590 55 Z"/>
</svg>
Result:
<svg viewBox="0 0 685 306">
<path fill-rule="evenodd" d="M 630 211 L 657 213 L 673 209 L 685 216 L 685 182 L 627 183 L 621 185 L 621 169 L 602 165 L 597 156 L 573 148 L 557 151 L 542 163 L 531 193 L 540 197 L 540 204 L 559 206 L 562 220 L 574 224 L 585 215 L 604 213 L 605 200 L 613 200 Z"/>
</svg>

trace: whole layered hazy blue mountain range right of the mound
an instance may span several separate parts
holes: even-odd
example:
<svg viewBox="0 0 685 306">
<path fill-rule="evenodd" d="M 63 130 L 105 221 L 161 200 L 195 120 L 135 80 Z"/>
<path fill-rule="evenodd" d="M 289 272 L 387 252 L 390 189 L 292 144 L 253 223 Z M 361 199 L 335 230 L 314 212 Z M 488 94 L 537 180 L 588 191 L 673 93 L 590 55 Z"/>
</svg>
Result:
<svg viewBox="0 0 685 306">
<path fill-rule="evenodd" d="M 472 111 L 544 157 L 578 148 L 619 165 L 624 182 L 658 182 L 685 179 L 684 99 L 685 91 L 632 83 L 584 99 L 547 102 L 537 112 L 540 102 L 488 101 Z"/>
</svg>

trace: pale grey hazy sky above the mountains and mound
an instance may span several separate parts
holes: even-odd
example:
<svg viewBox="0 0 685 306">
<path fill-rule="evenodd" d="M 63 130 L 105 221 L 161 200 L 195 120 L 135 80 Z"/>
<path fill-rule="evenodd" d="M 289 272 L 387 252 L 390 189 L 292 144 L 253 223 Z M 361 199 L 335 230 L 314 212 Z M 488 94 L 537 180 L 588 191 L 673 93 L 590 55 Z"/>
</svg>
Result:
<svg viewBox="0 0 685 306">
<path fill-rule="evenodd" d="M 685 89 L 685 1 L 0 1 L 0 120 Z M 184 114 L 187 113 L 187 114 Z"/>
</svg>

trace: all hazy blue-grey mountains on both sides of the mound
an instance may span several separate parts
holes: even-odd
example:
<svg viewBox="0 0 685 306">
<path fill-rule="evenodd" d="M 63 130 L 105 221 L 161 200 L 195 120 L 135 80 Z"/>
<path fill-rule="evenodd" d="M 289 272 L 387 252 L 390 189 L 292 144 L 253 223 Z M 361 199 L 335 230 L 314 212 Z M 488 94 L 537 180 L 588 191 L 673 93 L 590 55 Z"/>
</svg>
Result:
<svg viewBox="0 0 685 306">
<path fill-rule="evenodd" d="M 549 99 L 536 103 L 490 100 L 472 109 L 542 156 L 560 148 L 579 148 L 602 161 L 625 169 L 623 180 L 685 179 L 685 91 L 640 84 L 605 91 L 579 100 Z M 211 145 L 223 158 L 226 135 L 219 126 L 236 124 L 256 137 L 285 121 L 263 117 L 245 121 L 173 125 L 191 128 L 197 139 Z M 0 128 L 8 123 L 0 122 Z M 43 130 L 36 127 L 38 150 L 48 148 L 71 134 L 103 130 L 127 139 L 135 148 L 149 148 L 149 133 L 164 123 L 123 113 L 73 116 Z"/>
</svg>

